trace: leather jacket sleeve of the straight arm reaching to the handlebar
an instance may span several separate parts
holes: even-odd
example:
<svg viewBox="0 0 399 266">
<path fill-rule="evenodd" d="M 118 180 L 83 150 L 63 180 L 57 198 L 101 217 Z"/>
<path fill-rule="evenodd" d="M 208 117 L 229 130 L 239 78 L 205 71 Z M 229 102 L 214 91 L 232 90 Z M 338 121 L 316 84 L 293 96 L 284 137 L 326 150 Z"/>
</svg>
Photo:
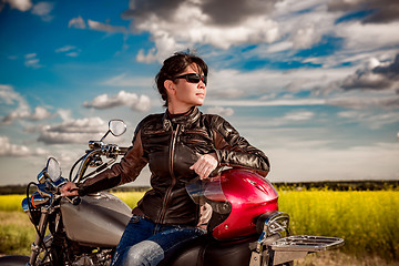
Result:
<svg viewBox="0 0 399 266">
<path fill-rule="evenodd" d="M 133 145 L 129 147 L 121 162 L 79 184 L 79 194 L 86 195 L 134 181 L 147 163 L 143 155 L 141 131 L 136 130 Z"/>
</svg>

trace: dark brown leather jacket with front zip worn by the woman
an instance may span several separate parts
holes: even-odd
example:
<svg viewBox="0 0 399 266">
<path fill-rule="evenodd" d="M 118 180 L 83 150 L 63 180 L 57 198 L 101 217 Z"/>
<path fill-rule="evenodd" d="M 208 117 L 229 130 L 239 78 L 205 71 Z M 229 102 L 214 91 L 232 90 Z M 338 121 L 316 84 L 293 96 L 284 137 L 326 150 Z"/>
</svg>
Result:
<svg viewBox="0 0 399 266">
<path fill-rule="evenodd" d="M 80 194 L 132 182 L 149 163 L 152 190 L 133 212 L 155 223 L 197 225 L 200 207 L 190 198 L 185 185 L 197 176 L 190 166 L 201 155 L 213 152 L 219 166 L 247 167 L 263 176 L 268 173 L 266 155 L 227 121 L 193 108 L 178 117 L 170 119 L 166 113 L 145 117 L 121 162 L 80 185 Z"/>
</svg>

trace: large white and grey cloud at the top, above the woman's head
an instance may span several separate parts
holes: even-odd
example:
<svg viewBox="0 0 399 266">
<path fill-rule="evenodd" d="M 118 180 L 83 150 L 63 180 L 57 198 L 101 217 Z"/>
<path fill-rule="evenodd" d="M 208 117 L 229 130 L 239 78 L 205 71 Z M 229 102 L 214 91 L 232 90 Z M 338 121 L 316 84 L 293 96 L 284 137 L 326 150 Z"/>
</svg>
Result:
<svg viewBox="0 0 399 266">
<path fill-rule="evenodd" d="M 173 51 L 204 44 L 226 50 L 233 45 L 268 43 L 273 47 L 266 49 L 273 52 L 308 49 L 334 32 L 339 16 L 327 12 L 326 3 L 317 1 L 276 1 L 275 4 L 275 1 L 256 0 L 176 1 L 171 4 L 175 10 L 163 16 L 157 11 L 163 12 L 165 7 L 157 8 L 156 2 L 152 0 L 144 8 L 137 4 L 125 12 L 126 18 L 133 18 L 132 27 L 150 32 L 155 43 L 147 52 L 139 52 L 139 62 L 161 61 Z M 211 2 L 214 10 L 204 7 Z M 146 10 L 152 4 L 154 10 Z M 239 10 L 234 19 L 232 10 Z"/>
</svg>

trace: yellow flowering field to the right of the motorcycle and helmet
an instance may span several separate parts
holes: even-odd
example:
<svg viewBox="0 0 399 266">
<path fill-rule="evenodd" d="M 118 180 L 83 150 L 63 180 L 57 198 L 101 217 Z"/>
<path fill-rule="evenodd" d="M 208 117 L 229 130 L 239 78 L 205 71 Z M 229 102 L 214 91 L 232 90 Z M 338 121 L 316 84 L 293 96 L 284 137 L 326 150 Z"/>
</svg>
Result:
<svg viewBox="0 0 399 266">
<path fill-rule="evenodd" d="M 356 255 L 399 259 L 399 192 L 279 192 L 293 234 L 336 236 Z"/>
</svg>

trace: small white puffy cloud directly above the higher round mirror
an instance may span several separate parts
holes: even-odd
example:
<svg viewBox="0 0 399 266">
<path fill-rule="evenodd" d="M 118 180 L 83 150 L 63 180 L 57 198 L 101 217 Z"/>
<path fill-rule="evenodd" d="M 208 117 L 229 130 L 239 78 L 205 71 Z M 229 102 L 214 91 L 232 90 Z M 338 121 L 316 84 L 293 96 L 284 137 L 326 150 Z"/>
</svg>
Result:
<svg viewBox="0 0 399 266">
<path fill-rule="evenodd" d="M 120 91 L 116 95 L 109 96 L 101 94 L 91 102 L 84 102 L 83 106 L 93 109 L 112 109 L 117 106 L 130 106 L 134 111 L 145 112 L 151 108 L 151 100 L 147 95 L 137 95 L 125 91 Z"/>
</svg>

